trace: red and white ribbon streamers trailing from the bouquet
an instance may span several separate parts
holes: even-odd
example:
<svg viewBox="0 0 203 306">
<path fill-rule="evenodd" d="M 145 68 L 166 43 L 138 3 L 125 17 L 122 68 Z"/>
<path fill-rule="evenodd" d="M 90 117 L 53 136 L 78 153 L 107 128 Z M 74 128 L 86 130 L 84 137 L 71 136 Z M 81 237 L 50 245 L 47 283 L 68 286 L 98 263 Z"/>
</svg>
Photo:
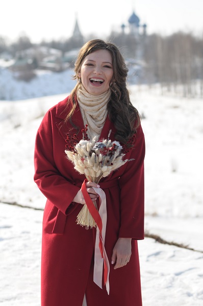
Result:
<svg viewBox="0 0 203 306">
<path fill-rule="evenodd" d="M 86 202 L 86 205 L 90 211 L 90 214 L 94 218 L 96 228 L 96 241 L 95 241 L 95 252 L 94 252 L 94 283 L 102 288 L 102 275 L 104 266 L 104 285 L 106 285 L 107 293 L 109 294 L 109 271 L 110 265 L 105 250 L 105 235 L 106 235 L 106 224 L 107 224 L 107 203 L 106 194 L 100 188 L 92 187 L 99 195 L 99 210 L 97 211 L 88 192 L 86 189 L 87 179 L 84 180 L 81 190 Z"/>
</svg>

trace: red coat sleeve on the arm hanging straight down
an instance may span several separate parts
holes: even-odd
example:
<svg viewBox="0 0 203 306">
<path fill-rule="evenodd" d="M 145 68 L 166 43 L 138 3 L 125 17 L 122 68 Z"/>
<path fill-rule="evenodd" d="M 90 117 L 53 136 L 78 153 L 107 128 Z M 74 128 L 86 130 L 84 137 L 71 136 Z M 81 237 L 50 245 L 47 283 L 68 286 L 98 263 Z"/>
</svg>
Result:
<svg viewBox="0 0 203 306">
<path fill-rule="evenodd" d="M 130 159 L 120 176 L 119 238 L 144 239 L 144 156 L 145 140 L 139 126 Z"/>
</svg>

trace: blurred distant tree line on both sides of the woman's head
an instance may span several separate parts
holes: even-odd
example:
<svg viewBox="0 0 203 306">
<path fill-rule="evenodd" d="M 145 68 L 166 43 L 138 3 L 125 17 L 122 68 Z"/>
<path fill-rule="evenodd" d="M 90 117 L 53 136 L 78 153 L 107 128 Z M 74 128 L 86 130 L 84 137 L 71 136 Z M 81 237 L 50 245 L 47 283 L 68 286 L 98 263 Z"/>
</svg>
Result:
<svg viewBox="0 0 203 306">
<path fill-rule="evenodd" d="M 91 38 L 94 37 L 86 37 L 84 41 Z M 184 96 L 203 96 L 203 37 L 177 32 L 169 36 L 146 35 L 138 40 L 128 34 L 111 33 L 107 40 L 121 48 L 125 58 L 134 58 L 135 61 L 136 52 L 141 46 L 143 77 L 140 82 L 149 85 L 160 83 L 163 92 L 178 92 L 181 88 Z M 74 38 L 43 40 L 33 44 L 27 36 L 21 36 L 9 44 L 5 38 L 0 37 L 0 55 L 7 51 L 15 56 L 16 52 L 36 45 L 60 49 L 65 53 L 82 44 L 77 42 L 76 46 Z"/>
</svg>

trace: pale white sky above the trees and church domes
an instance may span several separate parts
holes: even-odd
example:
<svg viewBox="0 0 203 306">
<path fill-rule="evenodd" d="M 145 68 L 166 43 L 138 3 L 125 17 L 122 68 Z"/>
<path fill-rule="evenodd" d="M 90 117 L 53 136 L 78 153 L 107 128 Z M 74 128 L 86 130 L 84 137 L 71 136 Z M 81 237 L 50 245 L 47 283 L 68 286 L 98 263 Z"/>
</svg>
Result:
<svg viewBox="0 0 203 306">
<path fill-rule="evenodd" d="M 104 38 L 128 25 L 133 10 L 149 34 L 203 34 L 203 0 L 0 0 L 0 36 L 15 40 L 24 33 L 32 42 L 69 38 L 77 14 L 84 36 Z"/>
</svg>

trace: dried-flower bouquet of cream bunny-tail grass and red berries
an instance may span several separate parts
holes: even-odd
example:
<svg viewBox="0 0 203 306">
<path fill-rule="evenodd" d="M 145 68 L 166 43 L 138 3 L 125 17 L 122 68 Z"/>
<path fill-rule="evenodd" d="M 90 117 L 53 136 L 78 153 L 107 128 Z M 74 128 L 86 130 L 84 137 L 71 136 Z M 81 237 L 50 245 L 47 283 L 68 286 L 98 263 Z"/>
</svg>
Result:
<svg viewBox="0 0 203 306">
<path fill-rule="evenodd" d="M 78 140 L 77 135 L 72 137 L 67 134 L 65 153 L 67 158 L 73 163 L 74 169 L 81 174 L 85 174 L 90 182 L 98 183 L 102 177 L 108 176 L 112 171 L 118 169 L 130 160 L 123 160 L 126 147 L 122 147 L 118 141 L 111 141 L 109 132 L 108 138 L 99 140 L 95 136 L 92 141 L 87 135 L 87 127 L 82 130 L 83 139 Z M 128 143 L 134 142 L 135 136 Z M 96 201 L 94 206 L 97 209 Z M 85 204 L 77 216 L 77 224 L 82 226 L 96 227 L 94 218 L 91 216 Z"/>
</svg>

